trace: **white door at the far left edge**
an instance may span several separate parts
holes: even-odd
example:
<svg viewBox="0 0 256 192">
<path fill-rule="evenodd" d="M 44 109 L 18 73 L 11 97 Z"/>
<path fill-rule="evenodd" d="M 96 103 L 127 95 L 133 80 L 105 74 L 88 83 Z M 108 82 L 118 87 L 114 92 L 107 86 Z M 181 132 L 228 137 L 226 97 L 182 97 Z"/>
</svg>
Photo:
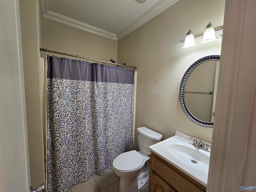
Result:
<svg viewBox="0 0 256 192">
<path fill-rule="evenodd" d="M 0 0 L 0 192 L 28 192 L 30 171 L 18 0 Z"/>
</svg>

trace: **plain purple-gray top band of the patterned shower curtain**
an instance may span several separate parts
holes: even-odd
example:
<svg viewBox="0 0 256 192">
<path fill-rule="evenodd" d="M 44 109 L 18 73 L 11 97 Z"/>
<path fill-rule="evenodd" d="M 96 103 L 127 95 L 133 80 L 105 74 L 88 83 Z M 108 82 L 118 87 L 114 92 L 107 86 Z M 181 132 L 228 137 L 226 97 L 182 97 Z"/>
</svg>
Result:
<svg viewBox="0 0 256 192">
<path fill-rule="evenodd" d="M 47 78 L 134 84 L 134 70 L 47 55 Z"/>
</svg>

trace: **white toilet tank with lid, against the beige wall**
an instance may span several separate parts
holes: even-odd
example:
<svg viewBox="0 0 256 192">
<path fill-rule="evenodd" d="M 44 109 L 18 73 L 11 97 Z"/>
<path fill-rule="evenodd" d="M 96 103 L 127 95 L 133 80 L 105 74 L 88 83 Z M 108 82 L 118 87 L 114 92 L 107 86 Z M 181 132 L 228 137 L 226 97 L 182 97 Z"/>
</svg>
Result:
<svg viewBox="0 0 256 192">
<path fill-rule="evenodd" d="M 146 127 L 138 128 L 137 136 L 140 151 L 146 155 L 150 153 L 150 149 L 148 147 L 160 142 L 163 138 L 162 134 L 150 130 Z"/>
</svg>

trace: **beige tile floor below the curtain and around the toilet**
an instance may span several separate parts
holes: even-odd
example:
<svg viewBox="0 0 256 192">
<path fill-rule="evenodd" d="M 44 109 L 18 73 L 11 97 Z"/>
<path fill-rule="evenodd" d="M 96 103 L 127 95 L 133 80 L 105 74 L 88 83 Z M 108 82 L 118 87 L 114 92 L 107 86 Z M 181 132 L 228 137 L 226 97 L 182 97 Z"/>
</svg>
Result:
<svg viewBox="0 0 256 192">
<path fill-rule="evenodd" d="M 119 192 L 119 178 L 112 169 L 107 169 L 104 175 L 93 175 L 86 182 L 75 184 L 66 192 Z M 139 192 L 148 192 L 148 183 Z"/>
</svg>

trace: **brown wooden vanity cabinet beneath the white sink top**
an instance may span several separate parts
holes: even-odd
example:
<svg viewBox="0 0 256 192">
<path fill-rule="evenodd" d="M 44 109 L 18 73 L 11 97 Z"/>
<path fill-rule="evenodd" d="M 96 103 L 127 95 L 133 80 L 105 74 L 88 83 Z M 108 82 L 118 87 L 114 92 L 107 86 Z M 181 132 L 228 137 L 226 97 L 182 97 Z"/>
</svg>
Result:
<svg viewBox="0 0 256 192">
<path fill-rule="evenodd" d="M 206 186 L 151 152 L 149 192 L 206 192 Z"/>
</svg>

